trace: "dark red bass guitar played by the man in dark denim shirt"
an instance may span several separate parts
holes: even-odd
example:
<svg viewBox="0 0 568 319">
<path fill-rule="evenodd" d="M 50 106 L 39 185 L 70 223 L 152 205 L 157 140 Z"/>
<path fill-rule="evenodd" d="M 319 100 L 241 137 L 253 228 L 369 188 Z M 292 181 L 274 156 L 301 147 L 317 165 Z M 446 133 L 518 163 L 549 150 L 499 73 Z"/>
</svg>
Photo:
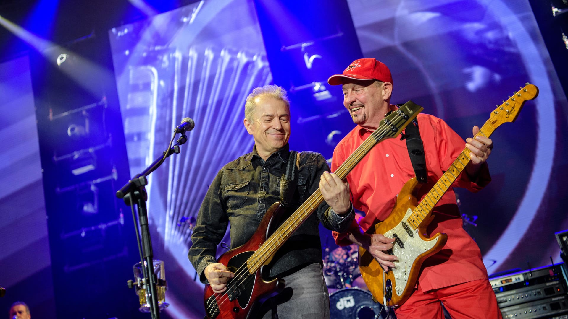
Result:
<svg viewBox="0 0 568 319">
<path fill-rule="evenodd" d="M 391 112 L 381 121 L 379 128 L 335 171 L 335 174 L 345 180 L 349 171 L 375 144 L 399 135 L 422 110 L 422 107 L 408 102 Z M 276 251 L 310 217 L 321 202 L 323 195 L 318 189 L 267 240 L 266 233 L 270 228 L 270 220 L 285 210 L 280 203 L 274 203 L 262 217 L 256 232 L 246 244 L 229 250 L 219 257 L 218 262 L 234 272 L 235 277 L 227 283 L 227 290 L 222 293 L 214 293 L 209 285 L 205 286 L 203 299 L 206 318 L 248 318 L 257 301 L 283 288 L 283 280 L 274 279 L 266 282 L 262 278 L 264 273 L 262 266 L 268 265 Z"/>
</svg>

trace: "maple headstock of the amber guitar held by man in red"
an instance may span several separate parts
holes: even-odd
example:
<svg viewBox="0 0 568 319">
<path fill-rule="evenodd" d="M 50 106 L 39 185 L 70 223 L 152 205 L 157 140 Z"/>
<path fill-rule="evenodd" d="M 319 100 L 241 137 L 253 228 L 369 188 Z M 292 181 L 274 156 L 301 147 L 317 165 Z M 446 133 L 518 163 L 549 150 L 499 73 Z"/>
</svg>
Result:
<svg viewBox="0 0 568 319">
<path fill-rule="evenodd" d="M 532 100 L 538 95 L 538 87 L 526 83 L 525 87 L 509 96 L 509 99 L 491 112 L 489 122 L 496 128 L 505 122 L 514 122 L 527 100 Z"/>
</svg>

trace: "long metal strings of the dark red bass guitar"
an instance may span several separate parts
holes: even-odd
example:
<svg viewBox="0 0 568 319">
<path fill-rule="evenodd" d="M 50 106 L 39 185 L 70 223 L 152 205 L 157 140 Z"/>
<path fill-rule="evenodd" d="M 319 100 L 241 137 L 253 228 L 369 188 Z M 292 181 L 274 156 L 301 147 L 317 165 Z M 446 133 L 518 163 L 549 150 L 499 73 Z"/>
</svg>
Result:
<svg viewBox="0 0 568 319">
<path fill-rule="evenodd" d="M 367 149 L 367 150 L 364 150 L 364 149 L 365 149 L 365 148 L 370 148 L 371 146 L 374 146 L 375 144 L 377 144 L 377 143 L 378 143 L 378 140 L 377 140 L 378 135 L 381 135 L 381 133 L 386 133 L 386 132 L 392 130 L 392 124 L 397 125 L 397 124 L 399 124 L 400 120 L 406 121 L 406 120 L 404 120 L 404 117 L 403 117 L 404 115 L 405 115 L 404 112 L 403 112 L 403 111 L 400 111 L 399 113 L 395 114 L 395 116 L 394 116 L 395 118 L 394 118 L 394 120 L 391 121 L 391 123 L 388 123 L 388 122 L 384 121 L 384 122 L 383 122 L 383 123 L 384 123 L 383 126 L 385 126 L 385 128 L 381 131 L 381 127 L 379 127 L 379 128 L 375 131 L 375 132 L 379 132 L 379 133 L 376 134 L 376 136 L 373 136 L 373 135 L 375 135 L 375 132 L 373 132 L 373 133 L 371 134 L 371 136 L 370 136 L 370 137 L 373 137 L 373 139 L 371 140 L 371 138 L 367 138 L 367 139 L 361 144 L 361 146 L 364 146 L 364 147 L 357 148 L 357 150 L 356 150 L 351 156 L 349 156 L 348 159 L 346 159 L 346 161 L 344 162 L 344 165 L 341 165 L 341 166 L 339 167 L 339 169 L 337 169 L 337 171 L 335 172 L 336 175 L 338 175 L 341 179 L 345 178 L 345 176 L 347 175 L 348 172 L 345 173 L 345 172 L 344 172 L 343 170 L 341 170 L 341 169 L 342 169 L 343 167 L 346 167 L 346 166 L 351 166 L 351 165 L 354 166 L 354 165 L 356 165 L 357 162 L 360 161 L 361 158 L 357 159 L 357 161 L 356 161 L 355 163 L 352 163 L 352 162 L 355 161 L 354 158 L 357 158 L 357 157 L 359 157 L 359 156 L 361 156 L 361 157 L 364 156 L 364 155 L 368 152 L 368 149 Z M 409 119 L 408 119 L 408 122 L 410 123 L 410 121 L 411 121 L 412 119 L 414 119 L 414 117 L 409 118 Z M 393 132 L 393 133 L 395 133 L 395 132 Z M 398 135 L 398 132 L 396 132 L 396 133 L 397 133 L 396 135 Z M 395 136 L 395 135 L 393 135 L 393 136 Z M 367 143 L 367 141 L 368 141 L 368 143 Z M 367 145 L 367 144 L 371 144 L 371 145 Z M 360 149 L 361 149 L 361 152 L 359 152 Z M 362 152 L 365 152 L 365 154 L 362 154 L 362 155 L 361 155 L 360 153 L 362 153 Z M 345 163 L 347 163 L 347 165 L 345 165 Z M 349 171 L 350 171 L 350 169 L 349 169 Z M 314 196 L 314 195 L 316 195 L 316 196 Z M 301 208 L 302 208 L 304 205 L 306 205 L 306 203 L 308 203 L 308 201 L 311 202 L 311 201 L 312 201 L 311 199 L 316 199 L 316 198 L 317 198 L 318 201 L 323 200 L 323 196 L 322 196 L 322 198 L 319 198 L 318 195 L 321 195 L 321 192 L 320 192 L 319 188 L 318 188 L 318 190 L 316 190 L 316 191 L 314 192 L 314 194 L 312 194 L 312 196 L 310 196 L 310 198 L 308 198 L 308 200 L 306 200 L 306 202 L 304 202 L 304 204 L 302 204 L 302 205 L 298 208 L 298 212 L 301 211 Z M 321 203 L 321 202 L 319 202 L 318 205 L 319 205 L 320 203 Z M 311 205 L 311 203 L 308 203 L 307 205 Z M 314 208 L 314 209 L 315 209 L 315 208 Z M 310 212 L 310 213 L 311 213 L 311 212 Z M 295 215 L 298 215 L 298 216 L 295 216 Z M 302 215 L 302 214 L 300 214 L 300 213 L 298 213 L 298 214 L 294 213 L 294 214 L 290 217 L 289 220 L 293 219 L 293 217 L 303 217 L 303 216 L 301 216 L 301 215 Z M 295 220 L 291 221 L 291 223 L 294 223 L 294 224 L 296 224 L 297 222 L 299 222 L 299 221 L 295 221 Z M 286 221 L 285 225 L 288 225 L 288 224 L 291 224 L 291 223 L 288 223 L 288 222 Z M 301 224 L 301 223 L 300 223 L 300 224 Z M 295 225 L 295 228 L 296 228 L 296 229 L 297 229 L 298 227 L 299 227 L 299 225 Z M 280 231 L 282 228 L 283 228 L 283 227 L 279 228 L 279 229 L 277 230 L 277 232 L 282 232 L 282 231 Z M 294 230 L 295 230 L 295 229 L 294 229 Z M 235 272 L 235 279 L 237 279 L 237 276 L 238 276 L 238 277 L 239 277 L 239 280 L 231 280 L 231 282 L 227 285 L 227 286 L 230 285 L 231 287 L 227 287 L 227 290 L 226 290 L 226 291 L 224 291 L 224 292 L 222 292 L 222 293 L 214 293 L 214 295 L 212 295 L 212 296 L 215 296 L 215 295 L 223 294 L 223 296 L 222 296 L 219 300 L 216 300 L 216 298 L 214 298 L 214 301 L 218 301 L 218 302 L 215 303 L 217 307 L 216 307 L 216 309 L 215 309 L 215 307 L 214 307 L 212 313 L 214 313 L 216 310 L 218 310 L 220 307 L 222 307 L 222 305 L 225 303 L 225 301 L 227 301 L 227 300 L 229 299 L 228 293 L 233 292 L 232 289 L 235 288 L 235 286 L 236 286 L 236 287 L 239 287 L 239 286 L 241 286 L 244 282 L 246 282 L 247 280 L 253 278 L 253 277 L 250 277 L 250 276 L 252 276 L 252 275 L 255 275 L 255 276 L 256 276 L 256 271 L 257 271 L 258 268 L 260 268 L 260 267 L 258 267 L 257 265 L 254 265 L 253 268 L 255 268 L 255 267 L 257 267 L 257 268 L 256 268 L 256 270 L 254 271 L 254 274 L 250 274 L 250 272 L 247 271 L 247 267 L 245 267 L 245 265 L 248 265 L 248 261 L 249 261 L 250 259 L 252 259 L 252 258 L 254 257 L 254 255 L 257 255 L 258 251 L 266 250 L 266 249 L 264 249 L 265 247 L 270 247 L 270 244 L 273 244 L 272 241 L 273 241 L 273 238 L 276 238 L 276 237 L 277 237 L 277 236 L 275 236 L 277 232 L 275 232 L 272 236 L 270 236 L 270 238 L 268 238 L 268 240 L 265 242 L 265 244 L 261 245 L 260 249 L 258 249 L 256 252 L 254 252 L 254 253 L 252 254 L 252 256 L 247 260 L 247 262 L 245 262 L 243 265 L 241 265 L 241 266 L 237 269 L 237 271 Z M 282 244 L 282 243 L 281 243 L 281 244 Z M 281 244 L 279 244 L 279 245 L 281 245 Z M 268 248 L 267 248 L 267 249 L 268 249 Z M 260 257 L 262 257 L 263 259 L 266 258 L 265 255 L 266 255 L 267 253 L 269 253 L 269 251 L 263 251 L 263 252 L 261 253 L 261 256 L 260 256 Z M 260 254 L 260 253 L 259 253 L 259 254 Z M 270 254 L 269 254 L 269 255 L 270 255 Z M 259 257 L 256 257 L 256 259 L 258 259 L 258 261 L 261 260 Z M 265 260 L 266 260 L 266 259 L 265 259 Z M 254 261 L 254 262 L 252 262 L 252 263 L 253 263 L 253 264 L 256 264 L 256 263 L 258 263 L 258 262 Z M 238 275 L 237 275 L 237 273 L 238 273 Z M 240 279 L 241 276 L 244 277 L 244 278 Z M 231 291 L 229 291 L 229 289 L 231 289 Z M 207 301 L 209 301 L 210 299 L 211 299 L 211 297 L 208 298 Z M 214 304 L 213 306 L 215 306 L 215 304 Z M 211 306 L 211 305 L 208 305 L 208 306 Z"/>
</svg>

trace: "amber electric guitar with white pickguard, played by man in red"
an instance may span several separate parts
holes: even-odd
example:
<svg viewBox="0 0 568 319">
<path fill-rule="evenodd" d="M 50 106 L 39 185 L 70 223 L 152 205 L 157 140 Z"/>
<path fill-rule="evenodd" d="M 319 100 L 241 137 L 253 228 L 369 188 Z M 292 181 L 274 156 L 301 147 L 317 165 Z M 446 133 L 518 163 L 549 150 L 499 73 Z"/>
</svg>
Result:
<svg viewBox="0 0 568 319">
<path fill-rule="evenodd" d="M 475 136 L 489 137 L 499 125 L 515 121 L 523 104 L 527 100 L 536 98 L 537 95 L 538 88 L 527 83 L 491 113 L 490 118 Z M 383 272 L 369 251 L 360 247 L 361 275 L 374 299 L 379 303 L 383 303 L 385 300 L 383 297 L 386 297 L 386 305 L 391 307 L 402 305 L 410 297 L 424 259 L 440 251 L 446 243 L 446 234 L 436 233 L 431 238 L 427 238 L 424 235 L 425 229 L 430 223 L 432 208 L 470 162 L 469 153 L 469 149 L 463 150 L 420 204 L 417 204 L 417 199 L 413 195 L 418 186 L 416 178 L 406 182 L 400 190 L 391 215 L 375 225 L 375 234 L 395 238 L 392 254 L 398 257 L 398 261 L 394 262 L 396 267 L 391 268 L 389 272 Z"/>
</svg>

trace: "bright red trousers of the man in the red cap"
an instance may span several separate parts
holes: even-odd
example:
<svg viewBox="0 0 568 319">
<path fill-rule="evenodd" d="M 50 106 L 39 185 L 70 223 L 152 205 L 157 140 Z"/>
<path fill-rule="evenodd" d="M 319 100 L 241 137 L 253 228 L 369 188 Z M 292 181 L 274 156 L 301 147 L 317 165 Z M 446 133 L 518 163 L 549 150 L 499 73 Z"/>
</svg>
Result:
<svg viewBox="0 0 568 319">
<path fill-rule="evenodd" d="M 450 287 L 422 291 L 420 284 L 408 300 L 395 309 L 397 319 L 444 319 L 442 303 L 452 319 L 502 319 L 489 280 L 473 280 Z"/>
</svg>

